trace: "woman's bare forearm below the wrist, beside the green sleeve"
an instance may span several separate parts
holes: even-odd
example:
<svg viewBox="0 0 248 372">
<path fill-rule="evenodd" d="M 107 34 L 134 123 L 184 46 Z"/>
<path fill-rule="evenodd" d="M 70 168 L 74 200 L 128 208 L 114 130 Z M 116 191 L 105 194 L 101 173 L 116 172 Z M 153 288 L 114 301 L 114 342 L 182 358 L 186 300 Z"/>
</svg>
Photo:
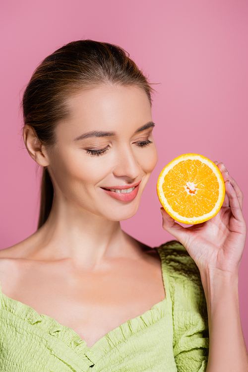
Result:
<svg viewBox="0 0 248 372">
<path fill-rule="evenodd" d="M 206 372 L 248 372 L 248 353 L 242 332 L 238 274 L 200 271 L 209 323 Z"/>
</svg>

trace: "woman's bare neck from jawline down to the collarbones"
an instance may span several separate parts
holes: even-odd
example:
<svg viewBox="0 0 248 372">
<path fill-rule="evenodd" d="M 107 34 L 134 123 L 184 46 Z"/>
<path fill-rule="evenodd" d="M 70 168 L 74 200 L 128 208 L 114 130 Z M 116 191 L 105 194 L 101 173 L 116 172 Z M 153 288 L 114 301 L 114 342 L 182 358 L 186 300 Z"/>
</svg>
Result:
<svg viewBox="0 0 248 372">
<path fill-rule="evenodd" d="M 110 221 L 70 203 L 54 201 L 46 223 L 35 233 L 37 259 L 71 259 L 84 269 L 97 268 L 105 259 L 138 254 L 134 239 Z"/>
</svg>

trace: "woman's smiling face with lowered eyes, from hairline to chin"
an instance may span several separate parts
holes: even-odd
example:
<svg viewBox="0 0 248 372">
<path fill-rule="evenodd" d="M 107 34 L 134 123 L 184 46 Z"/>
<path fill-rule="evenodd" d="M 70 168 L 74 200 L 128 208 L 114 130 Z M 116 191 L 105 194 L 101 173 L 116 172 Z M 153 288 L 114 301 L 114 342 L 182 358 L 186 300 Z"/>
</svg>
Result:
<svg viewBox="0 0 248 372">
<path fill-rule="evenodd" d="M 132 217 L 157 163 L 145 91 L 100 85 L 71 96 L 68 107 L 48 150 L 57 201 L 111 221 Z"/>
</svg>

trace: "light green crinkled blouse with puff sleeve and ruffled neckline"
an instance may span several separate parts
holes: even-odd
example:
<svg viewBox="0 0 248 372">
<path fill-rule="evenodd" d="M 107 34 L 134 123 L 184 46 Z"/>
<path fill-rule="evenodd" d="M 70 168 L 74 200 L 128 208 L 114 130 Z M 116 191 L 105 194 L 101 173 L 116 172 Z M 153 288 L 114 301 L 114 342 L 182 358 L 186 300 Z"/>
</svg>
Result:
<svg viewBox="0 0 248 372">
<path fill-rule="evenodd" d="M 0 291 L 0 371 L 205 371 L 209 339 L 198 268 L 178 241 L 156 250 L 166 298 L 91 348 L 71 328 Z"/>
</svg>

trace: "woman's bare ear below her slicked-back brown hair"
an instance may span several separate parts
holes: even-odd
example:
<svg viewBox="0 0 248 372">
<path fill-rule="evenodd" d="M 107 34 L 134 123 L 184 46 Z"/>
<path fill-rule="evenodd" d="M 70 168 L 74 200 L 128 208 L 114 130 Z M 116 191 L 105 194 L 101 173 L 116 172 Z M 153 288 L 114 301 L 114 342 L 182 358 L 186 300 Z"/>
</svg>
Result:
<svg viewBox="0 0 248 372">
<path fill-rule="evenodd" d="M 25 124 L 23 128 L 23 140 L 32 159 L 34 159 L 39 165 L 49 165 L 44 145 L 41 144 L 34 129 L 28 124 Z"/>
</svg>

